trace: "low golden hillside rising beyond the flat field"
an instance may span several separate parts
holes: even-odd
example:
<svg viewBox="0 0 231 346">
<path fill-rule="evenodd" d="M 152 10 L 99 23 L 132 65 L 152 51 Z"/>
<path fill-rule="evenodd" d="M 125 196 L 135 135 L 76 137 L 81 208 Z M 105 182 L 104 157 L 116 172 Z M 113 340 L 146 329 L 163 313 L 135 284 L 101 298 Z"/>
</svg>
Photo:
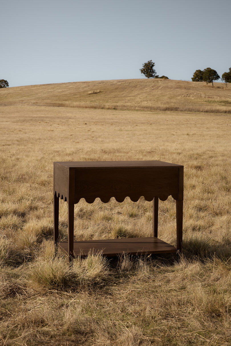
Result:
<svg viewBox="0 0 231 346">
<path fill-rule="evenodd" d="M 231 85 L 163 79 L 86 81 L 0 90 L 0 105 L 231 113 Z"/>
</svg>

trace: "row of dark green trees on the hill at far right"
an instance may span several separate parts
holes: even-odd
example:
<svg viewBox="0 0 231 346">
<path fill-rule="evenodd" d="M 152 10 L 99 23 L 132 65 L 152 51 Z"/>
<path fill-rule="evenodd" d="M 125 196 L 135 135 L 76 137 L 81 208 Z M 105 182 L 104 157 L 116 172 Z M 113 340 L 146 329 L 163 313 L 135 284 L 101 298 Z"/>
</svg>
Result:
<svg viewBox="0 0 231 346">
<path fill-rule="evenodd" d="M 207 69 L 202 70 L 196 70 L 192 76 L 193 82 L 206 82 L 212 83 L 213 81 L 217 81 L 220 78 L 219 74 L 216 72 L 216 70 L 211 69 L 210 67 L 207 67 Z M 221 80 L 225 82 L 226 86 L 227 83 L 231 83 L 231 67 L 229 69 L 229 72 L 224 72 L 221 76 Z"/>
</svg>

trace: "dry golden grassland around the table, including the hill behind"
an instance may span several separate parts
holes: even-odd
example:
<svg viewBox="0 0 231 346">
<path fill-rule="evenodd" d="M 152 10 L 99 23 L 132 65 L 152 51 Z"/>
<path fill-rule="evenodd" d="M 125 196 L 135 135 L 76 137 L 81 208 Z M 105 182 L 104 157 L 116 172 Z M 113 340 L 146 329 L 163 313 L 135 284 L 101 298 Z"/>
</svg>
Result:
<svg viewBox="0 0 231 346">
<path fill-rule="evenodd" d="M 231 88 L 122 80 L 0 90 L 0 345 L 231 345 Z M 53 161 L 183 164 L 183 255 L 54 256 Z M 159 237 L 176 244 L 175 201 Z M 152 203 L 75 205 L 75 239 L 150 236 Z M 60 202 L 67 238 L 67 207 Z"/>
</svg>

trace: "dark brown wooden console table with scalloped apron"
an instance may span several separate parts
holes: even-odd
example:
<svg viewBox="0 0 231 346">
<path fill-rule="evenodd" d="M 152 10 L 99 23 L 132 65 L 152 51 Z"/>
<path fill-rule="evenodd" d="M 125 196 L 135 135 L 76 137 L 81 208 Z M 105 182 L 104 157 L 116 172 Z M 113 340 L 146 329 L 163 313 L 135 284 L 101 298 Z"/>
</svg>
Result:
<svg viewBox="0 0 231 346">
<path fill-rule="evenodd" d="M 182 250 L 184 166 L 162 161 L 54 162 L 54 242 L 69 255 L 69 261 L 89 250 L 105 256 L 121 253 L 174 253 Z M 169 195 L 176 200 L 177 247 L 158 236 L 158 202 Z M 81 198 L 93 203 L 97 197 L 107 203 L 111 197 L 133 202 L 141 196 L 153 201 L 153 236 L 86 240 L 74 242 L 74 204 Z M 58 242 L 59 198 L 68 204 L 68 242 Z"/>
</svg>

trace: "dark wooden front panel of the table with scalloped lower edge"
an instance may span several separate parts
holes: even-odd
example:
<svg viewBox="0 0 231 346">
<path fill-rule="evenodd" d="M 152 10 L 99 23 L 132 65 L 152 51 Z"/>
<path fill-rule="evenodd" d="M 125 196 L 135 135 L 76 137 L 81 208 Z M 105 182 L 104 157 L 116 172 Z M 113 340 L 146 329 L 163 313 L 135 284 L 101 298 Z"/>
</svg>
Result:
<svg viewBox="0 0 231 346">
<path fill-rule="evenodd" d="M 81 198 L 93 203 L 97 197 L 123 202 L 127 196 L 133 202 L 141 196 L 152 201 L 171 194 L 178 194 L 178 167 L 75 169 L 75 203 Z"/>
</svg>

